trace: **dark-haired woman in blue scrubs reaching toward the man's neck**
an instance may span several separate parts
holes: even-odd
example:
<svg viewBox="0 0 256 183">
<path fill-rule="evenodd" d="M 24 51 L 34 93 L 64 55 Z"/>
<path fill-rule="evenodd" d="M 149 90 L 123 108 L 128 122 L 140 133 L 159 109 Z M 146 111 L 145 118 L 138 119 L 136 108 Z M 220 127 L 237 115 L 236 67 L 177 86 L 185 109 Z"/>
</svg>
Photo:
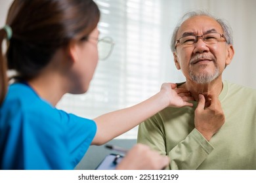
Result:
<svg viewBox="0 0 256 183">
<path fill-rule="evenodd" d="M 58 110 L 65 93 L 87 92 L 98 62 L 100 12 L 94 1 L 15 0 L 0 29 L 0 169 L 74 169 L 91 144 L 125 133 L 165 107 L 192 106 L 175 84 L 133 107 L 89 120 Z M 0 45 L 1 45 L 0 44 Z M 111 49 L 110 49 L 111 50 Z M 7 69 L 16 72 L 10 84 Z M 139 163 L 138 163 L 139 162 Z M 137 144 L 117 169 L 169 163 Z"/>
</svg>

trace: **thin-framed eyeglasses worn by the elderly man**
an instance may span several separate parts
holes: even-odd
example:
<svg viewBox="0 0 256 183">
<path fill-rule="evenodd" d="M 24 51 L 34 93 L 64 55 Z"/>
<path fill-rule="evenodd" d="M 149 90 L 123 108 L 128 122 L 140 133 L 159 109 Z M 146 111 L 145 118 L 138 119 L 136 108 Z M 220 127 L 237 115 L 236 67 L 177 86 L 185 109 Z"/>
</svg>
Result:
<svg viewBox="0 0 256 183">
<path fill-rule="evenodd" d="M 199 37 L 201 37 L 203 42 L 205 42 L 206 44 L 216 44 L 217 42 L 220 42 L 222 38 L 224 38 L 224 41 L 226 41 L 224 35 L 220 33 L 205 33 L 203 35 L 185 35 L 176 41 L 175 48 L 177 47 L 178 43 L 180 43 L 182 46 L 192 46 L 193 44 L 198 42 Z"/>
</svg>

